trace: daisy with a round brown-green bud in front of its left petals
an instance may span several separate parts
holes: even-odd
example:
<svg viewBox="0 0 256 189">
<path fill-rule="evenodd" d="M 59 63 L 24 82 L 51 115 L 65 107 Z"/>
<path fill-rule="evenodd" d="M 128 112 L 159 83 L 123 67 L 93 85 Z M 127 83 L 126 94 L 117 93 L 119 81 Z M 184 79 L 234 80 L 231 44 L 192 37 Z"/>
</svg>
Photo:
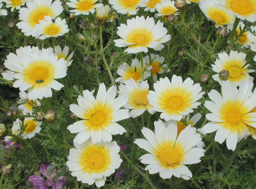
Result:
<svg viewBox="0 0 256 189">
<path fill-rule="evenodd" d="M 255 72 L 255 70 L 248 70 L 250 64 L 245 65 L 246 54 L 243 52 L 237 52 L 231 50 L 229 55 L 226 52 L 218 54 L 220 59 L 216 59 L 215 65 L 213 66 L 213 71 L 217 72 L 213 75 L 213 79 L 222 85 L 222 80 L 219 77 L 219 72 L 222 70 L 229 71 L 230 83 L 232 86 L 237 87 L 242 84 L 243 81 L 248 81 L 252 83 L 253 77 L 249 76 L 250 72 Z"/>
</svg>

